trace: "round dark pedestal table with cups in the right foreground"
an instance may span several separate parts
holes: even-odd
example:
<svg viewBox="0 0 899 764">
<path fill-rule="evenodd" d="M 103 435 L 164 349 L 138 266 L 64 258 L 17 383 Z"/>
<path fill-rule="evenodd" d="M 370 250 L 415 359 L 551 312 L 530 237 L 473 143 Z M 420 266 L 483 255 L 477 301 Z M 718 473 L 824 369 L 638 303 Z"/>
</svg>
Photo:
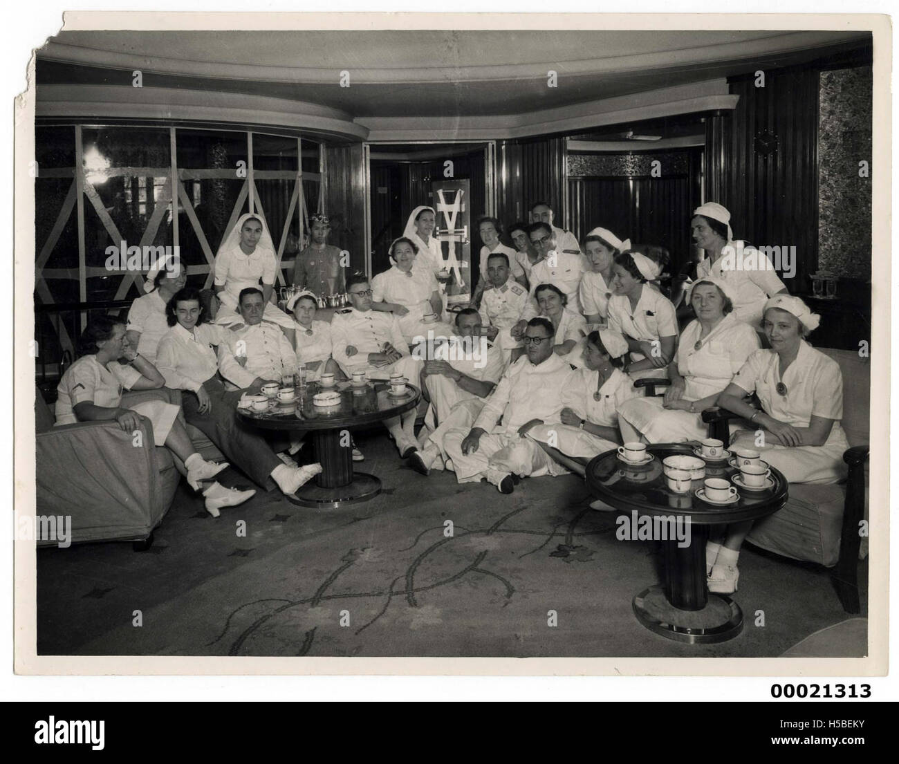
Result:
<svg viewBox="0 0 899 764">
<path fill-rule="evenodd" d="M 787 502 L 787 479 L 770 467 L 769 488 L 737 488 L 736 502 L 715 505 L 696 495 L 703 487 L 702 480 L 692 481 L 688 493 L 673 493 L 668 488 L 663 459 L 696 456 L 690 445 L 663 443 L 646 450 L 654 458 L 644 466 L 626 464 L 617 449 L 606 451 L 592 459 L 585 475 L 593 495 L 626 514 L 630 526 L 645 527 L 647 521 L 652 521 L 654 530 L 648 537 L 663 544 L 665 582 L 637 594 L 634 613 L 646 628 L 680 642 L 711 644 L 733 639 L 743 630 L 743 611 L 729 597 L 708 591 L 708 529 L 759 520 L 778 511 Z M 726 461 L 705 461 L 703 479 L 720 477 L 730 481 L 739 472 Z M 667 533 L 667 537 L 656 538 L 655 529 Z M 677 529 L 685 531 L 680 538 L 674 537 Z"/>
</svg>

